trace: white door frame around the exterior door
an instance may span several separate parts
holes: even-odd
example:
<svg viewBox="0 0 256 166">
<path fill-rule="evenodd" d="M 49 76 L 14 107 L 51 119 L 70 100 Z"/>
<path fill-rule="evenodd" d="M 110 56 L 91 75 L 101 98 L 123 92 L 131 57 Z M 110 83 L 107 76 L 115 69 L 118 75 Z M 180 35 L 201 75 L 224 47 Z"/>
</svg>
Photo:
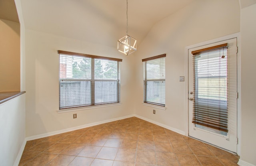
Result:
<svg viewBox="0 0 256 166">
<path fill-rule="evenodd" d="M 204 45 L 208 45 L 208 44 L 212 44 L 212 43 L 216 43 L 219 41 L 224 41 L 224 40 L 229 40 L 232 38 L 237 38 L 237 46 L 238 46 L 238 53 L 237 53 L 237 91 L 238 91 L 238 99 L 237 99 L 237 137 L 238 137 L 238 144 L 237 144 L 237 154 L 240 155 L 241 152 L 241 90 L 240 90 L 240 85 L 241 85 L 241 81 L 240 81 L 240 32 L 235 33 L 235 34 L 231 34 L 228 36 L 223 36 L 220 38 L 216 38 L 213 40 L 208 40 L 208 41 L 203 41 L 201 43 L 196 43 L 193 45 L 189 45 L 185 47 L 185 84 L 186 84 L 186 95 L 185 95 L 185 110 L 186 112 L 186 131 L 185 131 L 185 135 L 188 136 L 188 97 L 189 97 L 189 89 L 188 89 L 188 56 L 189 56 L 189 49 L 195 48 L 195 47 L 200 47 L 200 46 L 204 46 Z"/>
</svg>

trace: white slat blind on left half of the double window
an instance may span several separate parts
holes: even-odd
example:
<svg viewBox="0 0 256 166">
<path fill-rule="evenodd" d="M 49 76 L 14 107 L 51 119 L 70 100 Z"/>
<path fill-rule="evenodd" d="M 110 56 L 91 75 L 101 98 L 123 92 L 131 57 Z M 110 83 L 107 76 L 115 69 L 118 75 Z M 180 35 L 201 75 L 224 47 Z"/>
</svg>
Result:
<svg viewBox="0 0 256 166">
<path fill-rule="evenodd" d="M 91 58 L 60 54 L 59 67 L 60 109 L 90 105 Z"/>
</svg>

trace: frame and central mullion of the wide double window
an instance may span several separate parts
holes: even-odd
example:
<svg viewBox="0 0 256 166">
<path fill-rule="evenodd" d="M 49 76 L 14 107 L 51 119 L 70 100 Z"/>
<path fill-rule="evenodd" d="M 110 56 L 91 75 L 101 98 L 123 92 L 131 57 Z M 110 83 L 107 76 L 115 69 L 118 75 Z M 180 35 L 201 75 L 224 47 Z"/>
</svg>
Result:
<svg viewBox="0 0 256 166">
<path fill-rule="evenodd" d="M 60 63 L 60 56 L 61 55 L 67 55 L 67 56 L 75 56 L 75 57 L 88 57 L 90 58 L 91 60 L 91 78 L 90 79 L 80 79 L 80 78 L 61 78 L 61 75 L 60 75 L 60 64 L 59 64 L 59 111 L 65 111 L 67 109 L 81 109 L 81 108 L 94 108 L 94 107 L 106 107 L 106 106 L 109 106 L 109 105 L 113 105 L 113 104 L 120 104 L 120 72 L 121 72 L 121 69 L 120 69 L 120 62 L 122 61 L 122 59 L 117 59 L 117 58 L 112 58 L 112 57 L 102 57 L 102 56 L 96 56 L 96 55 L 88 55 L 88 54 L 83 54 L 83 53 L 74 53 L 74 52 L 69 52 L 69 51 L 61 51 L 61 50 L 58 50 L 58 54 L 59 54 L 59 63 Z M 117 79 L 95 79 L 94 78 L 94 73 L 95 73 L 95 66 L 94 66 L 94 61 L 95 59 L 102 59 L 102 60 L 109 60 L 109 61 L 116 61 L 117 62 Z M 73 105 L 65 105 L 65 106 L 62 106 L 61 107 L 61 92 L 60 92 L 60 88 L 61 88 L 61 81 L 90 81 L 90 104 L 82 104 L 82 105 L 75 105 L 74 103 L 72 103 Z M 96 97 L 96 94 L 95 94 L 95 84 L 97 81 L 106 81 L 106 82 L 109 82 L 109 81 L 116 81 L 117 84 L 116 84 L 116 101 L 110 101 L 110 102 L 102 102 L 102 103 L 95 103 L 95 97 Z M 65 95 L 65 97 L 67 97 Z"/>
</svg>

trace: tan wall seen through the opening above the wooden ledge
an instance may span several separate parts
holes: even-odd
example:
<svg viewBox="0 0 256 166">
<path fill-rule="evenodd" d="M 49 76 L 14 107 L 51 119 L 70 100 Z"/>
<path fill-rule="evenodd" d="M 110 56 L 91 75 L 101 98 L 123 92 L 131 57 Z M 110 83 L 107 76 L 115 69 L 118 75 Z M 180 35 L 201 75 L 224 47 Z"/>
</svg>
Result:
<svg viewBox="0 0 256 166">
<path fill-rule="evenodd" d="M 0 19 L 0 92 L 20 91 L 20 24 Z"/>
</svg>

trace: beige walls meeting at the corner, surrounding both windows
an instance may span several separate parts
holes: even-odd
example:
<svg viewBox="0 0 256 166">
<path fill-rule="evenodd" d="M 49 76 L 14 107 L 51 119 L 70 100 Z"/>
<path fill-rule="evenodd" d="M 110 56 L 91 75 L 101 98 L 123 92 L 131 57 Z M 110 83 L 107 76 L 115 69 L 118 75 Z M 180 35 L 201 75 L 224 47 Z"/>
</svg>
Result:
<svg viewBox="0 0 256 166">
<path fill-rule="evenodd" d="M 216 24 L 213 26 L 213 23 Z M 135 108 L 137 115 L 185 134 L 187 78 L 185 82 L 179 82 L 179 76 L 184 76 L 186 73 L 185 47 L 239 31 L 240 8 L 238 1 L 234 3 L 234 0 L 225 2 L 198 0 L 192 3 L 158 22 L 142 41 L 138 51 L 129 56 L 118 53 L 116 48 L 26 30 L 27 136 L 131 115 L 135 113 Z M 72 119 L 74 112 L 57 113 L 58 49 L 122 58 L 122 105 L 78 111 L 78 119 Z M 167 109 L 165 111 L 156 109 L 157 113 L 153 115 L 153 108 L 142 105 L 141 59 L 162 53 L 166 53 Z"/>
</svg>

